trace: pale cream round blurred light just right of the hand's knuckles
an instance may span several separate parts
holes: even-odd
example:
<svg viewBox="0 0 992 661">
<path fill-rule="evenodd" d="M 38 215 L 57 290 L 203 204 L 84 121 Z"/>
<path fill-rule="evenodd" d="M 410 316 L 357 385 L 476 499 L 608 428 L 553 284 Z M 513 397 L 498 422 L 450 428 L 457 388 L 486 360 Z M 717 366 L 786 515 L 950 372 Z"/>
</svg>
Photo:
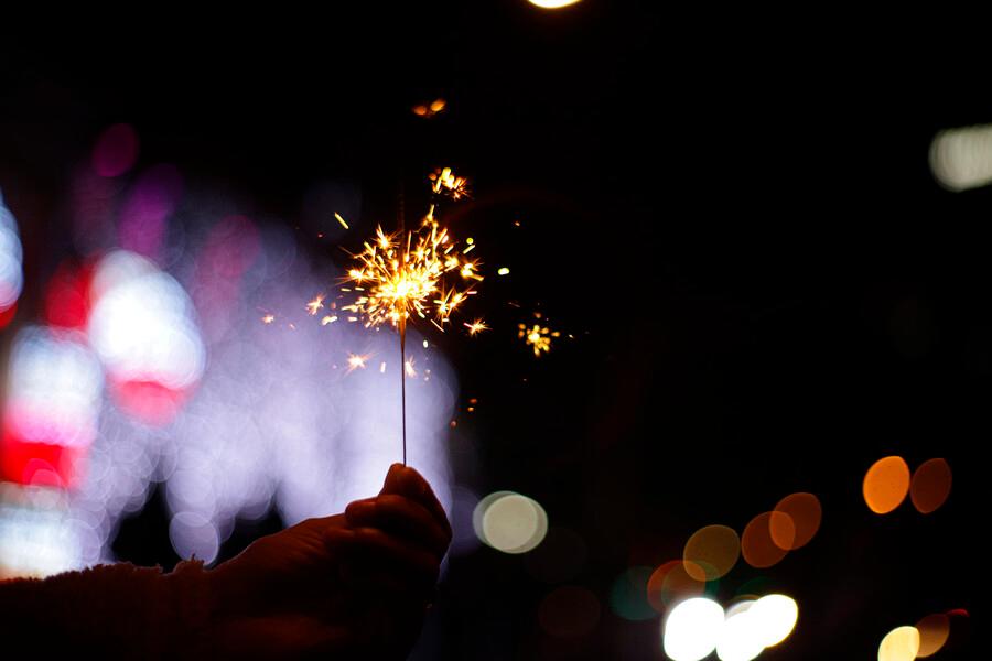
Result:
<svg viewBox="0 0 992 661">
<path fill-rule="evenodd" d="M 479 500 L 472 522 L 479 540 L 504 553 L 527 553 L 548 532 L 544 508 L 514 491 L 496 491 Z"/>
</svg>

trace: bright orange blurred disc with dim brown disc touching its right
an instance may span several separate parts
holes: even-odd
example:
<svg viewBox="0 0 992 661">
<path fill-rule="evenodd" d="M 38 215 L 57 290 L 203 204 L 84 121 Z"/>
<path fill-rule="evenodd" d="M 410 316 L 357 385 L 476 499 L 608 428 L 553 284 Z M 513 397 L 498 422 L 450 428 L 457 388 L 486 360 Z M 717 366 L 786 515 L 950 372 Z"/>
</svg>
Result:
<svg viewBox="0 0 992 661">
<path fill-rule="evenodd" d="M 952 475 L 946 459 L 924 462 L 909 474 L 903 457 L 883 457 L 872 464 L 864 475 L 862 492 L 869 509 L 876 514 L 895 511 L 906 496 L 923 514 L 937 511 L 950 496 Z"/>
</svg>

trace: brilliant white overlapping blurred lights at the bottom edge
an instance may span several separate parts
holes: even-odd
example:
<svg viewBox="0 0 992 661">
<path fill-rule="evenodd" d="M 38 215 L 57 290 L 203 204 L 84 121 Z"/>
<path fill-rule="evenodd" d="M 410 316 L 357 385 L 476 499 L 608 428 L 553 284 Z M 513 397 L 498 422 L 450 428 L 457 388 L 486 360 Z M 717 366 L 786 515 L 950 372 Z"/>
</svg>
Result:
<svg viewBox="0 0 992 661">
<path fill-rule="evenodd" d="M 665 653 L 673 661 L 699 661 L 713 650 L 721 661 L 750 661 L 792 632 L 799 608 L 791 597 L 766 595 L 726 610 L 708 597 L 692 597 L 668 614 Z"/>
</svg>

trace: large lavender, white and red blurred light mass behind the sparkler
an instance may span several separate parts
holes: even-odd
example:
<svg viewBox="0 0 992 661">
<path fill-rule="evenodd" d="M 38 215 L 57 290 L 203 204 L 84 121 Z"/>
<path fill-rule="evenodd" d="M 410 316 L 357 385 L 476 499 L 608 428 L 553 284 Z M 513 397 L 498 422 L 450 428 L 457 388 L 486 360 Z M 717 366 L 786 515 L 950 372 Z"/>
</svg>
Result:
<svg viewBox="0 0 992 661">
<path fill-rule="evenodd" d="M 236 520 L 274 508 L 293 524 L 341 511 L 377 492 L 400 456 L 399 411 L 379 405 L 399 383 L 362 366 L 335 370 L 328 358 L 397 347 L 358 324 L 300 323 L 302 302 L 337 274 L 311 264 L 291 231 L 238 216 L 223 196 L 191 197 L 174 167 L 129 181 L 137 149 L 125 126 L 97 141 L 72 196 L 85 261 L 48 283 L 48 327 L 13 342 L 0 572 L 112 561 L 121 518 L 155 484 L 176 552 L 211 562 Z M 0 212 L 0 227 L 13 227 Z M 259 324 L 259 311 L 280 324 Z M 456 383 L 436 353 L 410 354 L 431 377 L 408 386 L 410 459 L 448 507 Z M 62 495 L 57 506 L 24 505 L 40 485 Z"/>
</svg>

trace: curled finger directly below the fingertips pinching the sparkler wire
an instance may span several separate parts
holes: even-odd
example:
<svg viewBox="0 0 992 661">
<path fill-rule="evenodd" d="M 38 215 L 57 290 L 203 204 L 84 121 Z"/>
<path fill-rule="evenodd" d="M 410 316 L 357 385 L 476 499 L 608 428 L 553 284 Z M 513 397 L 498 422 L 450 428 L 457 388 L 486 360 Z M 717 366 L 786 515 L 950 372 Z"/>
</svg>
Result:
<svg viewBox="0 0 992 661">
<path fill-rule="evenodd" d="M 352 528 L 379 528 L 422 544 L 438 559 L 451 543 L 448 519 L 438 520 L 425 507 L 395 494 L 356 500 L 345 511 Z"/>
</svg>

